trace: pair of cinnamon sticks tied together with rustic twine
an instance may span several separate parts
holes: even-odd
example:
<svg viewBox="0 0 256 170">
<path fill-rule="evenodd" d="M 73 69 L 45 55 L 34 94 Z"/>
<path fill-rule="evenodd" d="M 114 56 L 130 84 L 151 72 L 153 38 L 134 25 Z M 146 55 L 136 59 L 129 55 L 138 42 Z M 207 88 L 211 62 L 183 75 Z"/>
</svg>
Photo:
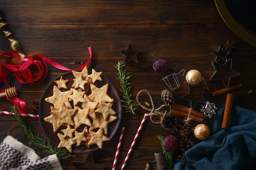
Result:
<svg viewBox="0 0 256 170">
<path fill-rule="evenodd" d="M 173 104 L 171 113 L 175 114 L 177 116 L 180 116 L 180 117 L 188 117 L 189 116 L 191 118 L 191 120 L 194 120 L 194 121 L 200 122 L 200 123 L 203 122 L 203 120 L 204 120 L 203 113 L 191 109 L 190 114 L 189 114 L 189 110 L 190 110 L 189 108 L 186 108 L 184 106 Z"/>
</svg>

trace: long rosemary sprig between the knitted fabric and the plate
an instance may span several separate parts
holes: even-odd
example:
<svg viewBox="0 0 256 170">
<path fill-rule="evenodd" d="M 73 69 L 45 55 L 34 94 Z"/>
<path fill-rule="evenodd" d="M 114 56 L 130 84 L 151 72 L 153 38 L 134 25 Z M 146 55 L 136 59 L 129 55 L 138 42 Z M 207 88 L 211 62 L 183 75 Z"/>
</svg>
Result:
<svg viewBox="0 0 256 170">
<path fill-rule="evenodd" d="M 40 149 L 43 149 L 45 153 L 47 154 L 56 154 L 61 159 L 67 159 L 71 156 L 70 153 L 66 152 L 65 150 L 58 149 L 56 146 L 51 144 L 51 142 L 46 142 L 45 139 L 41 139 L 39 135 L 34 135 L 30 127 L 27 127 L 21 119 L 19 112 L 15 106 L 11 106 L 12 113 L 14 113 L 18 123 L 20 124 L 20 127 L 23 130 L 23 133 L 26 134 L 26 136 Z"/>
</svg>

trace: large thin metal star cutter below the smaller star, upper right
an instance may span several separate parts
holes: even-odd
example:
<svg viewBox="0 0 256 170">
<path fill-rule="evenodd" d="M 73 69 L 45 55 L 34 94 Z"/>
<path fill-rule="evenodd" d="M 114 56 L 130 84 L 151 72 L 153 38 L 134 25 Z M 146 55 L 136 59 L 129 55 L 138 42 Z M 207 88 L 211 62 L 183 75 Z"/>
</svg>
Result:
<svg viewBox="0 0 256 170">
<path fill-rule="evenodd" d="M 228 87 L 229 86 L 229 84 L 230 84 L 230 78 L 232 78 L 232 77 L 236 77 L 236 76 L 239 76 L 240 75 L 240 73 L 239 72 L 237 72 L 237 71 L 235 71 L 235 70 L 233 70 L 232 69 L 232 59 L 228 59 L 227 60 L 227 62 L 225 62 L 224 64 L 220 64 L 220 63 L 218 63 L 218 62 L 212 62 L 212 66 L 213 66 L 213 68 L 214 68 L 214 70 L 215 70 L 215 72 L 214 72 L 214 74 L 212 74 L 212 77 L 210 78 L 210 80 L 217 80 L 217 79 L 220 79 L 222 82 L 223 82 L 223 84 L 224 84 L 224 86 L 225 87 Z M 222 71 L 220 71 L 222 69 Z M 225 71 L 223 71 L 225 69 Z M 223 79 L 225 78 L 223 75 L 228 75 L 228 71 L 229 72 L 233 72 L 233 73 L 235 73 L 233 76 L 228 76 L 228 77 L 226 77 L 227 78 L 227 84 L 223 81 Z M 224 73 L 223 75 L 218 75 L 218 74 L 220 74 L 220 73 Z"/>
</svg>

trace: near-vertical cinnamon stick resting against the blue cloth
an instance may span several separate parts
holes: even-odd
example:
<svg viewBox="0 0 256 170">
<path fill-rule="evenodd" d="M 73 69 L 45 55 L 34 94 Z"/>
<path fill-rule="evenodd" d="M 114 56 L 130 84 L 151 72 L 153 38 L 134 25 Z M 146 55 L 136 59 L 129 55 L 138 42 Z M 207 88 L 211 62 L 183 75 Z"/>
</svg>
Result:
<svg viewBox="0 0 256 170">
<path fill-rule="evenodd" d="M 233 99 L 234 99 L 233 94 L 227 94 L 226 104 L 225 104 L 225 109 L 224 109 L 224 116 L 223 116 L 223 121 L 222 121 L 222 126 L 221 126 L 224 129 L 227 129 L 230 127 Z"/>
</svg>

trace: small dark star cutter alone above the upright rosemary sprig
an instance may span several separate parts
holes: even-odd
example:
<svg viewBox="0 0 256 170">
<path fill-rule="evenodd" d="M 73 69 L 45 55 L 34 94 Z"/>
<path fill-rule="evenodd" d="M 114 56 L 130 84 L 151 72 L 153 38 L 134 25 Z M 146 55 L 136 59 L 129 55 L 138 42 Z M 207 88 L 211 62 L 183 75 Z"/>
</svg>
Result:
<svg viewBox="0 0 256 170">
<path fill-rule="evenodd" d="M 135 50 L 131 43 L 129 43 L 128 48 L 126 50 L 120 51 L 120 53 L 125 56 L 125 64 L 129 61 L 134 61 L 138 63 L 137 55 L 140 54 L 141 50 Z M 134 57 L 135 56 L 135 57 Z"/>
</svg>

